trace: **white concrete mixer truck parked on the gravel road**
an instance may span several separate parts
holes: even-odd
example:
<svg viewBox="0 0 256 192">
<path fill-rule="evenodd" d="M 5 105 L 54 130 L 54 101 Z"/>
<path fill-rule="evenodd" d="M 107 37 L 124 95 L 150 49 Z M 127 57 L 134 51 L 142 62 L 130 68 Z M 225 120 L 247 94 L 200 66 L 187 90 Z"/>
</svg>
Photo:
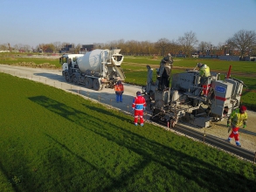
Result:
<svg viewBox="0 0 256 192">
<path fill-rule="evenodd" d="M 59 58 L 62 75 L 66 82 L 85 85 L 96 91 L 103 87 L 113 88 L 115 82 L 125 79 L 120 51 L 96 49 L 86 54 L 64 54 Z"/>
</svg>

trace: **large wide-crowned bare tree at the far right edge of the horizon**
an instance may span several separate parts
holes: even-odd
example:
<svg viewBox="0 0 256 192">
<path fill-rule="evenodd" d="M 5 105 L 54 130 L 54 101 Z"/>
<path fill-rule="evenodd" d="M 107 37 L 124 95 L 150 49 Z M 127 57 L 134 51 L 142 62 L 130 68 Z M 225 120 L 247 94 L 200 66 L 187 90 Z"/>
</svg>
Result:
<svg viewBox="0 0 256 192">
<path fill-rule="evenodd" d="M 255 31 L 240 30 L 232 38 L 227 39 L 225 43 L 231 49 L 238 50 L 243 58 L 245 55 L 249 55 L 256 45 L 256 33 Z"/>
</svg>

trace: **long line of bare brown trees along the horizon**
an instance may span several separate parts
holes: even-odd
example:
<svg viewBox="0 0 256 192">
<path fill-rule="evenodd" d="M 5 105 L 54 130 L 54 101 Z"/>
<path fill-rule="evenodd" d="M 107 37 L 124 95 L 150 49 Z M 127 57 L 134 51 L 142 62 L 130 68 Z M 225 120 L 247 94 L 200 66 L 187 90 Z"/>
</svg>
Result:
<svg viewBox="0 0 256 192">
<path fill-rule="evenodd" d="M 23 50 L 23 51 L 43 51 L 58 53 L 61 48 L 66 45 L 71 45 L 67 42 L 54 42 L 50 44 L 40 44 L 35 48 L 30 45 L 13 45 L 3 44 L 0 45 L 0 51 L 4 50 Z M 74 53 L 79 53 L 82 45 L 73 45 Z M 135 41 L 124 39 L 114 40 L 108 43 L 94 43 L 95 49 L 110 49 L 119 48 L 124 55 L 161 55 L 164 56 L 168 53 L 172 55 L 183 55 L 190 57 L 191 54 L 204 54 L 204 55 L 221 55 L 223 50 L 228 50 L 230 55 L 256 56 L 256 33 L 255 31 L 241 30 L 236 32 L 231 38 L 228 38 L 225 43 L 212 45 L 211 42 L 199 42 L 197 35 L 193 31 L 188 31 L 183 36 L 176 40 L 169 40 L 168 38 L 160 38 L 157 42 L 150 41 Z"/>
</svg>

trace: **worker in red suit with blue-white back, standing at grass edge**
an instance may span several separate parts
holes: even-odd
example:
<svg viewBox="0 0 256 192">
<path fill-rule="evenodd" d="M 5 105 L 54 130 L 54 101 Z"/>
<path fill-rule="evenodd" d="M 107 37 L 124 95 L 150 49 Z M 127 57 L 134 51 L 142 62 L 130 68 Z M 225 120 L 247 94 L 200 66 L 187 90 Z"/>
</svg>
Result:
<svg viewBox="0 0 256 192">
<path fill-rule="evenodd" d="M 133 100 L 132 107 L 133 111 L 135 111 L 135 126 L 138 125 L 138 118 L 140 118 L 141 126 L 144 126 L 143 110 L 146 109 L 146 100 L 144 97 L 142 97 L 141 92 L 136 93 L 136 97 Z"/>
</svg>

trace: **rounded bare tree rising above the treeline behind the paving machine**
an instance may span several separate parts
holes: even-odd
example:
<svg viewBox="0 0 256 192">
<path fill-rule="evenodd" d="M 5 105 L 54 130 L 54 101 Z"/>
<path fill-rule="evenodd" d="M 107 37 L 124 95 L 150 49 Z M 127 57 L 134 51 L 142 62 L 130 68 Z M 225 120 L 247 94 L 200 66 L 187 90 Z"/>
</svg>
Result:
<svg viewBox="0 0 256 192">
<path fill-rule="evenodd" d="M 197 44 L 198 40 L 196 33 L 190 31 L 185 32 L 183 37 L 179 37 L 177 42 L 182 46 L 183 52 L 186 54 L 186 56 L 190 57 L 190 53 L 193 50 L 193 47 Z"/>
</svg>

